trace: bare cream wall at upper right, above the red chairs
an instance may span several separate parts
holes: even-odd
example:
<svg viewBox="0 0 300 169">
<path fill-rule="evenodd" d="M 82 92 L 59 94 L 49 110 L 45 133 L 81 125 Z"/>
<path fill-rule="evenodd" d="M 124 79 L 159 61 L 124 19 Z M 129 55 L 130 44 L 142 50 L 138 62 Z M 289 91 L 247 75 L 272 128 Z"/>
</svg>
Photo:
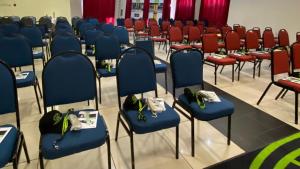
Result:
<svg viewBox="0 0 300 169">
<path fill-rule="evenodd" d="M 300 0 L 231 0 L 228 24 L 244 25 L 247 29 L 258 26 L 261 30 L 270 26 L 276 36 L 278 30 L 285 28 L 293 43 L 300 31 L 299 7 Z"/>
</svg>

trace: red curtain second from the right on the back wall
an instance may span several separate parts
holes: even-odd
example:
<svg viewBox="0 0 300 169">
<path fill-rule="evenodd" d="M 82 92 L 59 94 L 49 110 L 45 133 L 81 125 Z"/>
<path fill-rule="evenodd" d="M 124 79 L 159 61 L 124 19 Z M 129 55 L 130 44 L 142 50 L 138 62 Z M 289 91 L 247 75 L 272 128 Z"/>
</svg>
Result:
<svg viewBox="0 0 300 169">
<path fill-rule="evenodd" d="M 195 0 L 177 0 L 176 2 L 176 20 L 194 20 Z"/>
</svg>

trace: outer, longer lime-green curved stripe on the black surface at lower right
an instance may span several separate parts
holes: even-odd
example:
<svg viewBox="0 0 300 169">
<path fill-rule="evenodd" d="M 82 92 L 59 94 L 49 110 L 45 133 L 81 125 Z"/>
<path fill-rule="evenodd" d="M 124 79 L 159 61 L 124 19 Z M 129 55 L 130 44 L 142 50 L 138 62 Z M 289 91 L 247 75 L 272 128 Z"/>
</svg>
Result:
<svg viewBox="0 0 300 169">
<path fill-rule="evenodd" d="M 274 152 L 276 149 L 278 149 L 280 146 L 291 142 L 293 140 L 299 139 L 300 133 L 293 134 L 289 137 L 283 138 L 281 140 L 278 140 L 276 142 L 271 143 L 267 147 L 265 147 L 252 161 L 249 169 L 259 169 L 263 162 L 270 156 L 272 152 Z"/>
</svg>

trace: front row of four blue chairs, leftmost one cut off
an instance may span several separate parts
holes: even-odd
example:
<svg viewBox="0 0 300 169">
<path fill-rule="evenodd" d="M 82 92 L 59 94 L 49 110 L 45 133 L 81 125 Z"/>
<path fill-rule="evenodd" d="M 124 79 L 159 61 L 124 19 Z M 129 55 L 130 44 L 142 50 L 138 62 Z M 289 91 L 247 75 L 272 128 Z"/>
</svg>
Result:
<svg viewBox="0 0 300 169">
<path fill-rule="evenodd" d="M 15 168 L 17 168 L 18 158 L 16 159 L 15 157 L 19 156 L 14 155 L 14 153 L 19 153 L 21 147 L 16 146 L 14 143 L 19 141 L 21 132 L 19 111 L 17 109 L 18 100 L 15 76 L 11 71 L 11 67 L 3 61 L 0 61 L 0 70 L 1 84 L 5 84 L 6 86 L 5 88 L 0 88 L 0 113 L 4 114 L 16 111 L 18 124 L 17 128 L 11 126 L 13 128 L 13 132 L 10 132 L 4 140 L 3 143 L 5 144 L 0 144 L 1 150 L 5 150 L 0 152 L 0 154 L 4 153 L 0 156 L 0 167 L 3 167 L 8 162 L 13 161 Z M 137 111 L 125 111 L 122 107 L 121 98 L 131 94 L 143 94 L 151 91 L 155 91 L 155 96 L 157 96 L 155 66 L 151 54 L 138 47 L 125 50 L 117 59 L 116 72 L 119 113 L 115 139 L 117 141 L 119 125 L 121 124 L 130 136 L 131 161 L 133 169 L 135 168 L 134 134 L 145 134 L 163 129 L 175 128 L 176 158 L 179 158 L 180 117 L 174 109 L 177 109 L 191 121 L 192 156 L 195 155 L 195 119 L 210 121 L 222 117 L 228 117 L 227 144 L 230 144 L 231 115 L 234 112 L 234 105 L 230 101 L 221 97 L 221 102 L 206 103 L 206 108 L 201 109 L 197 103 L 189 103 L 184 94 L 181 94 L 178 97 L 175 95 L 175 90 L 177 88 L 195 85 L 200 85 L 202 89 L 204 88 L 203 54 L 201 51 L 191 49 L 177 51 L 172 54 L 171 72 L 173 77 L 173 108 L 165 103 L 166 111 L 159 113 L 157 118 L 152 117 L 150 110 L 145 110 L 144 113 L 147 117 L 147 121 L 145 122 L 137 120 Z M 95 110 L 99 111 L 96 76 L 97 74 L 92 62 L 81 53 L 66 52 L 52 57 L 44 67 L 42 74 L 44 112 L 47 113 L 47 107 L 77 103 L 86 100 L 95 100 Z M 183 112 L 181 108 L 183 108 L 186 112 Z M 80 110 L 76 110 L 75 113 L 78 113 L 79 111 Z M 111 168 L 109 131 L 101 114 L 99 114 L 96 128 L 82 130 L 80 132 L 68 131 L 64 135 L 64 138 L 58 142 L 57 145 L 59 148 L 55 149 L 53 147 L 53 143 L 60 137 L 60 134 L 41 135 L 39 161 L 42 169 L 44 168 L 43 159 L 54 160 L 89 149 L 98 148 L 105 142 L 108 147 L 108 167 Z M 22 143 L 23 144 L 21 145 L 25 149 L 27 162 L 29 163 L 30 161 L 24 139 Z M 3 148 L 2 146 L 7 147 Z M 8 148 L 8 146 L 11 148 Z"/>
</svg>

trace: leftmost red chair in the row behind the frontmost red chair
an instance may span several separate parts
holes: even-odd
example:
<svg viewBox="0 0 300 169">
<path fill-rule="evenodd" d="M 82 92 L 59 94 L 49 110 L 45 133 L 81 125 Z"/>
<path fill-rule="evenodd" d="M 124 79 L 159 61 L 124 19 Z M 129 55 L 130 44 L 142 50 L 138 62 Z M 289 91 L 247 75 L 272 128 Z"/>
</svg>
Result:
<svg viewBox="0 0 300 169">
<path fill-rule="evenodd" d="M 226 46 L 225 49 L 226 49 L 227 55 L 229 57 L 234 58 L 237 61 L 238 80 L 240 80 L 240 72 L 246 62 L 253 63 L 253 78 L 255 78 L 255 67 L 256 67 L 255 56 L 246 55 L 245 53 L 237 53 L 238 50 L 240 50 L 240 48 L 241 48 L 239 34 L 236 33 L 235 31 L 227 32 L 227 34 L 225 36 L 225 46 Z M 241 66 L 242 62 L 243 62 L 243 65 Z"/>
</svg>

